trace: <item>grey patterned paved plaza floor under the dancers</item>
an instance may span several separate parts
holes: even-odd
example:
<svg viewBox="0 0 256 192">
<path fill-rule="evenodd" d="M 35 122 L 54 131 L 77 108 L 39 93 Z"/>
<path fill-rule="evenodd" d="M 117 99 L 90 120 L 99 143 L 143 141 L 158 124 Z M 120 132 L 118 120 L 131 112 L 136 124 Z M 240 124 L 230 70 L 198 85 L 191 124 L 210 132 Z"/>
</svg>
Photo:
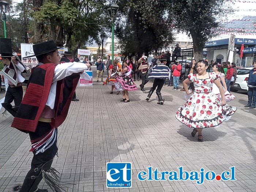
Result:
<svg viewBox="0 0 256 192">
<path fill-rule="evenodd" d="M 95 67 L 93 67 L 95 72 Z M 104 79 L 106 72 L 104 73 Z M 135 82 L 137 87 L 141 81 Z M 152 83 L 146 84 L 149 90 Z M 180 84 L 180 88 L 182 85 Z M 58 128 L 59 156 L 53 167 L 60 172 L 68 192 L 212 192 L 256 191 L 256 109 L 244 108 L 247 95 L 233 93 L 229 102 L 237 107 L 231 120 L 218 128 L 203 130 L 204 142 L 191 136 L 192 129 L 175 118 L 185 103 L 184 92 L 164 86 L 164 105 L 157 105 L 154 93 L 146 101 L 146 93 L 129 92 L 131 102 L 120 102 L 122 95 L 109 94 L 111 86 L 96 83 L 77 87 L 80 99 L 72 102 L 67 119 Z M 0 98 L 4 96 L 3 91 Z M 1 110 L 2 112 L 3 110 Z M 30 169 L 29 135 L 11 127 L 13 117 L 0 116 L 0 192 L 11 192 L 12 186 L 23 182 Z M 132 187 L 107 188 L 106 163 L 131 162 Z M 235 166 L 236 181 L 139 181 L 140 171 L 147 167 L 160 171 L 214 171 L 221 174 Z M 168 178 L 168 177 L 167 177 Z M 52 190 L 41 182 L 41 188 Z"/>
</svg>

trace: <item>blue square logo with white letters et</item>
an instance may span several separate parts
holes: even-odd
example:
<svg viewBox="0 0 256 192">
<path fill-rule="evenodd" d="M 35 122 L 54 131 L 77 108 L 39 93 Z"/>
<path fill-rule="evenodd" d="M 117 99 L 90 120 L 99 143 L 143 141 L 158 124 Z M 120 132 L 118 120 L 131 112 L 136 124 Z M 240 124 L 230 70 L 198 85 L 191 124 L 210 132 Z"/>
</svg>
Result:
<svg viewBox="0 0 256 192">
<path fill-rule="evenodd" d="M 107 187 L 132 187 L 131 163 L 107 163 Z"/>
</svg>

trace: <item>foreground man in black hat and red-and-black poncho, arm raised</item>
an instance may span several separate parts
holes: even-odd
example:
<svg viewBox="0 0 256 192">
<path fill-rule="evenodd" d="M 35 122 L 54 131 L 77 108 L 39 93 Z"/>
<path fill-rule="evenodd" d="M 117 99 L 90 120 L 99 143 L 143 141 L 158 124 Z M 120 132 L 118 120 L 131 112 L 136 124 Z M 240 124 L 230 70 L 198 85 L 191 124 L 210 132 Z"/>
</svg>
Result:
<svg viewBox="0 0 256 192">
<path fill-rule="evenodd" d="M 26 93 L 11 126 L 29 133 L 30 151 L 34 156 L 23 185 L 15 186 L 14 191 L 48 192 L 38 189 L 42 178 L 53 191 L 64 191 L 57 180 L 57 171 L 51 167 L 58 150 L 57 127 L 67 117 L 80 74 L 89 64 L 59 64 L 57 49 L 52 40 L 33 45 L 39 63 L 32 69 Z"/>
</svg>

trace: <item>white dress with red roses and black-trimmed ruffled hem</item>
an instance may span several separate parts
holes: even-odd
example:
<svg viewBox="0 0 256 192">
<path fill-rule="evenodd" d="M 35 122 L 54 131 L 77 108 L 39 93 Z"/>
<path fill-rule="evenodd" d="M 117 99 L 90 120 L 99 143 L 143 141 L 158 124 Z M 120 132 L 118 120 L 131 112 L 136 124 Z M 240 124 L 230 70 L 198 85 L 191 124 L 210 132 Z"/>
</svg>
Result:
<svg viewBox="0 0 256 192">
<path fill-rule="evenodd" d="M 195 90 L 185 105 L 182 105 L 176 118 L 192 128 L 215 127 L 223 121 L 230 119 L 236 112 L 236 107 L 221 106 L 221 100 L 212 93 L 212 84 L 218 78 L 215 73 L 208 73 L 209 78 L 197 79 L 196 74 L 189 74 L 189 80 L 194 84 Z"/>
</svg>

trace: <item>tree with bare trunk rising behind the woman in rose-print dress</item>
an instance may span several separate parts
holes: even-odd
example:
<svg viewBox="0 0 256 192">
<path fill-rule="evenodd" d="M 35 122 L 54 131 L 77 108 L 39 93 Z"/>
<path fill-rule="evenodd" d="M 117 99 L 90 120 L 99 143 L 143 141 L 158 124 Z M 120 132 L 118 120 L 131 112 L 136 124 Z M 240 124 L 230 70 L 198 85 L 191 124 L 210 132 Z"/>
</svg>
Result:
<svg viewBox="0 0 256 192">
<path fill-rule="evenodd" d="M 218 18 L 229 12 L 227 0 L 169 0 L 169 15 L 174 17 L 176 29 L 185 31 L 193 39 L 195 59 L 203 58 L 205 42 L 215 36 Z"/>
</svg>

